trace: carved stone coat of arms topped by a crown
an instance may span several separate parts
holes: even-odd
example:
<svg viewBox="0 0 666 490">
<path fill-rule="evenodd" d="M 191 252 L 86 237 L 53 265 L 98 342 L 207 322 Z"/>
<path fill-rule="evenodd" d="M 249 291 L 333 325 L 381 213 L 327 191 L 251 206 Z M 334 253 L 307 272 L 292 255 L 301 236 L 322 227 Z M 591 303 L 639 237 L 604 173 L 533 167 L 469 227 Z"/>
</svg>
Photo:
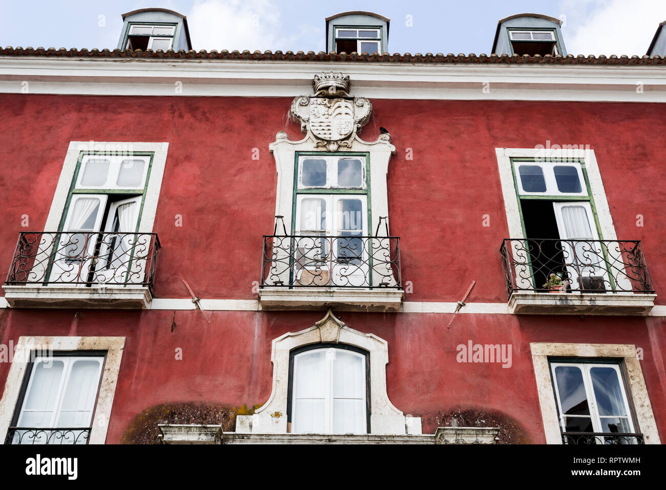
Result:
<svg viewBox="0 0 666 490">
<path fill-rule="evenodd" d="M 300 95 L 292 101 L 291 116 L 316 146 L 328 151 L 349 148 L 370 119 L 372 104 L 365 97 L 350 97 L 349 86 L 348 75 L 318 73 L 312 81 L 314 95 Z"/>
</svg>

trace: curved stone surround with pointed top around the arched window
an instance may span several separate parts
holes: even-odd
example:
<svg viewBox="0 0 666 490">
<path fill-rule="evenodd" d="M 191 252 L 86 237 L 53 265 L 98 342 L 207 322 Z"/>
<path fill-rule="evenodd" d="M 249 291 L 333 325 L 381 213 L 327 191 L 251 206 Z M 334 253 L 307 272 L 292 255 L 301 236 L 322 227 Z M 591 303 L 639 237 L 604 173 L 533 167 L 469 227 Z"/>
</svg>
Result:
<svg viewBox="0 0 666 490">
<path fill-rule="evenodd" d="M 289 355 L 292 349 L 316 343 L 345 343 L 370 353 L 370 433 L 421 434 L 420 417 L 405 416 L 388 399 L 386 364 L 388 343 L 372 333 L 361 333 L 338 320 L 328 310 L 314 326 L 280 335 L 272 341 L 272 389 L 268 401 L 254 415 L 236 417 L 236 433 L 287 433 Z"/>
</svg>

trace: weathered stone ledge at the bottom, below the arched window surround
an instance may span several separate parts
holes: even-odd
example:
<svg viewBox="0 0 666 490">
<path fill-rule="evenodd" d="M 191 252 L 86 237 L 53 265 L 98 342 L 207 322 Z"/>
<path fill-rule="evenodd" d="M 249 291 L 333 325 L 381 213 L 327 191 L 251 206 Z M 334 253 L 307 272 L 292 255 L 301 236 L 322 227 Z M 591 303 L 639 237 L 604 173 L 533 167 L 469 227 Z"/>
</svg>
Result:
<svg viewBox="0 0 666 490">
<path fill-rule="evenodd" d="M 426 435 L 244 434 L 220 425 L 158 425 L 165 444 L 496 444 L 498 427 L 438 427 Z"/>
</svg>

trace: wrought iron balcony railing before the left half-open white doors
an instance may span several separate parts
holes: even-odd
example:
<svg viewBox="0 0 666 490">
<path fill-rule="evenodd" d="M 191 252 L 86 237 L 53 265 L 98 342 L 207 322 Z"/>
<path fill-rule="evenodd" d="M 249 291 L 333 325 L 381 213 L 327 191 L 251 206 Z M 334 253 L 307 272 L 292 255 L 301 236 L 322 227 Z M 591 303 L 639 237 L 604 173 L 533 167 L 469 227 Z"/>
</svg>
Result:
<svg viewBox="0 0 666 490">
<path fill-rule="evenodd" d="M 141 285 L 153 289 L 155 233 L 26 231 L 6 285 Z"/>
</svg>

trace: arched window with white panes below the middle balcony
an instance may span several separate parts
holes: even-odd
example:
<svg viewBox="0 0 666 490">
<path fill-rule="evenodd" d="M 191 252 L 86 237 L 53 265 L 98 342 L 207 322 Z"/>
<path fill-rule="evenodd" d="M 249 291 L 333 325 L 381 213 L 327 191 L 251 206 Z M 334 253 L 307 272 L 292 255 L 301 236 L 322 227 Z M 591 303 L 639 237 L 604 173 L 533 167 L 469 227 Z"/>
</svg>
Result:
<svg viewBox="0 0 666 490">
<path fill-rule="evenodd" d="M 370 359 L 349 345 L 318 344 L 290 353 L 292 433 L 370 433 Z"/>
</svg>

